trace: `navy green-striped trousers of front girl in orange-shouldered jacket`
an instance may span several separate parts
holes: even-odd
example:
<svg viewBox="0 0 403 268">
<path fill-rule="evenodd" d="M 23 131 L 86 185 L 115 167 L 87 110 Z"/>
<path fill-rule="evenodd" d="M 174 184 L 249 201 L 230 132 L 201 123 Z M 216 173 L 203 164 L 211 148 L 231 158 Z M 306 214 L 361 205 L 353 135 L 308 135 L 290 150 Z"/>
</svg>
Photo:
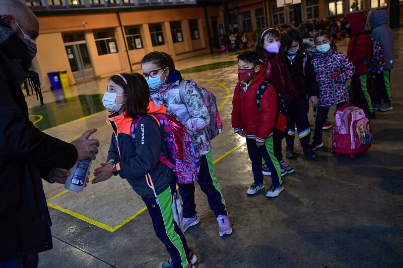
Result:
<svg viewBox="0 0 403 268">
<path fill-rule="evenodd" d="M 176 180 L 157 198 L 143 198 L 148 208 L 157 237 L 164 243 L 175 268 L 187 268 L 190 249 L 186 239 L 173 219 L 172 196 L 175 192 Z M 158 201 L 157 201 L 158 200 Z"/>
</svg>

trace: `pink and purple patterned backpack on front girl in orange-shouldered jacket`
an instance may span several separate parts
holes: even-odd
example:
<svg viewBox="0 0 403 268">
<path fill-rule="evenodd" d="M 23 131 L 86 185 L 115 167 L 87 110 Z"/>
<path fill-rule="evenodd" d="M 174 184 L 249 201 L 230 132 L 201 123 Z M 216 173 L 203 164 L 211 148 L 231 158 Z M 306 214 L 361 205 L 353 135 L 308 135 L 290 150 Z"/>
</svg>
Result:
<svg viewBox="0 0 403 268">
<path fill-rule="evenodd" d="M 162 126 L 164 142 L 167 146 L 169 159 L 160 152 L 159 160 L 171 168 L 176 175 L 178 184 L 190 184 L 197 180 L 200 168 L 200 154 L 198 149 L 182 125 L 173 115 L 151 115 Z M 143 116 L 133 119 L 131 122 L 130 136 L 136 146 L 136 129 Z"/>
</svg>

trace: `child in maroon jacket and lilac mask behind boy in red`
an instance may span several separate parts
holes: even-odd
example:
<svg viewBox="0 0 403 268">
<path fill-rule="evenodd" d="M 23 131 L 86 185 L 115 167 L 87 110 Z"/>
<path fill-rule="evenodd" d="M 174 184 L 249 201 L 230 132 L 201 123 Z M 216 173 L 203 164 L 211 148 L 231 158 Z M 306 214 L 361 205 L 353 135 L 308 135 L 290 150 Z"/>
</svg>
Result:
<svg viewBox="0 0 403 268">
<path fill-rule="evenodd" d="M 261 31 L 256 42 L 256 52 L 263 62 L 263 65 L 271 72 L 266 70 L 266 79 L 274 85 L 277 93 L 280 93 L 287 105 L 298 98 L 298 92 L 295 89 L 294 82 L 288 71 L 284 59 L 279 54 L 280 50 L 280 33 L 276 29 L 266 28 Z M 274 154 L 280 162 L 282 175 L 294 172 L 294 168 L 283 160 L 281 152 L 281 142 L 285 133 L 275 131 L 273 136 Z M 263 169 L 263 174 L 270 175 L 270 170 Z"/>
</svg>

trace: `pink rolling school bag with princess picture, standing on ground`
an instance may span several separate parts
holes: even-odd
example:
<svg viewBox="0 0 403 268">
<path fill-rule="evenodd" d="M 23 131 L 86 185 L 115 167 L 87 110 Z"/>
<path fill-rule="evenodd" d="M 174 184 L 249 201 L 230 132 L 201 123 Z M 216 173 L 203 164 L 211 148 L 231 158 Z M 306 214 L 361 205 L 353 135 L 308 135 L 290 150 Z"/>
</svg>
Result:
<svg viewBox="0 0 403 268">
<path fill-rule="evenodd" d="M 369 119 L 364 111 L 350 103 L 335 112 L 331 150 L 337 154 L 366 152 L 374 141 Z"/>
</svg>

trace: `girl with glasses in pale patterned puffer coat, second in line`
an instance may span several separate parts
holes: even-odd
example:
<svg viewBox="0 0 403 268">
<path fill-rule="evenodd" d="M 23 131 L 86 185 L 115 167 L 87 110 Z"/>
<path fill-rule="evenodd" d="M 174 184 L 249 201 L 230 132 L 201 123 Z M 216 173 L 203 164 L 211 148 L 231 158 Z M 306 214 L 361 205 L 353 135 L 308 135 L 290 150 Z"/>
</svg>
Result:
<svg viewBox="0 0 403 268">
<path fill-rule="evenodd" d="M 206 128 L 210 124 L 210 114 L 203 96 L 197 91 L 197 84 L 190 80 L 186 84 L 184 102 L 180 98 L 179 84 L 182 81 L 175 63 L 165 52 L 151 52 L 142 59 L 143 75 L 150 86 L 151 100 L 157 105 L 164 105 L 168 115 L 174 115 L 187 129 L 193 142 L 200 151 L 200 170 L 197 183 L 208 198 L 214 211 L 219 235 L 232 233 L 223 193 L 214 171 L 212 146 Z M 179 184 L 179 194 L 183 201 L 183 227 L 187 228 L 200 222 L 194 203 L 194 183 Z"/>
</svg>

